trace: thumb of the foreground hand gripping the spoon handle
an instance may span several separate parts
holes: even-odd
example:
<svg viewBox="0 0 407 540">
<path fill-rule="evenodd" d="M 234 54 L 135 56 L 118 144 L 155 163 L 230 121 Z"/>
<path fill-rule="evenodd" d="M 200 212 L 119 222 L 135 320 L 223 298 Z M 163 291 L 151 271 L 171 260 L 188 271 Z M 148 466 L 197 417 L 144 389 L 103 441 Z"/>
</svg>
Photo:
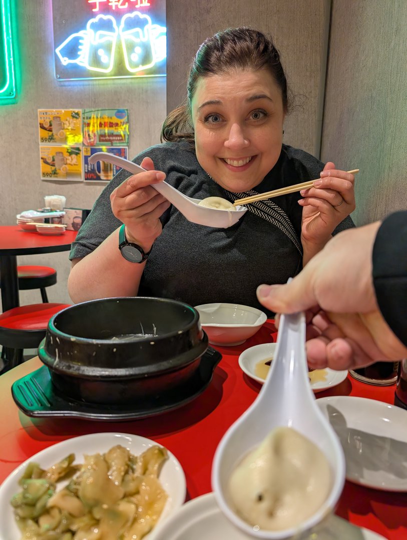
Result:
<svg viewBox="0 0 407 540">
<path fill-rule="evenodd" d="M 285 285 L 259 285 L 258 301 L 275 313 L 296 313 L 318 304 L 311 274 L 305 269 Z"/>
</svg>

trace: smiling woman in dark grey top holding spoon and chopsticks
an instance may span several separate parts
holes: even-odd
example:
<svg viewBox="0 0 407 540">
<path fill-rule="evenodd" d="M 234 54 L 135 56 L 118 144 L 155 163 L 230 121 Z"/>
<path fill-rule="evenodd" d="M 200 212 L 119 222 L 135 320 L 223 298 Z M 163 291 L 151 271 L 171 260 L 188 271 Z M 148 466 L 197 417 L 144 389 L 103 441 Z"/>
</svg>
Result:
<svg viewBox="0 0 407 540">
<path fill-rule="evenodd" d="M 120 171 L 79 231 L 70 254 L 72 300 L 138 294 L 260 308 L 259 284 L 285 282 L 332 233 L 352 227 L 353 176 L 282 144 L 288 109 L 270 39 L 248 28 L 206 39 L 191 67 L 186 104 L 165 120 L 165 143 L 135 159 L 148 171 Z M 190 197 L 234 201 L 320 173 L 301 194 L 248 205 L 227 229 L 190 223 L 151 186 L 165 178 Z M 126 247 L 118 249 L 126 241 L 136 245 L 130 251 L 139 264 L 124 258 Z"/>
</svg>

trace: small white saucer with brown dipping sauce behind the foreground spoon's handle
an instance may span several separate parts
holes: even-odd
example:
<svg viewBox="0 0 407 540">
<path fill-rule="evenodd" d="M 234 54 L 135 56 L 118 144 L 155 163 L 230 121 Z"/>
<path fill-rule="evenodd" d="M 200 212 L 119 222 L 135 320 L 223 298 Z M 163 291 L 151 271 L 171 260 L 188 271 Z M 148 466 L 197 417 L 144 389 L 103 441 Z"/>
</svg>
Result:
<svg viewBox="0 0 407 540">
<path fill-rule="evenodd" d="M 262 343 L 261 345 L 255 345 L 243 351 L 239 356 L 239 366 L 244 373 L 254 379 L 255 381 L 263 384 L 264 379 L 256 375 L 256 364 L 272 357 L 275 353 L 277 343 Z M 311 388 L 313 392 L 322 392 L 328 388 L 332 388 L 340 384 L 348 376 L 348 371 L 335 371 L 333 369 L 316 369 L 312 372 L 314 377 L 317 372 L 321 372 L 321 379 L 311 382 Z"/>
</svg>

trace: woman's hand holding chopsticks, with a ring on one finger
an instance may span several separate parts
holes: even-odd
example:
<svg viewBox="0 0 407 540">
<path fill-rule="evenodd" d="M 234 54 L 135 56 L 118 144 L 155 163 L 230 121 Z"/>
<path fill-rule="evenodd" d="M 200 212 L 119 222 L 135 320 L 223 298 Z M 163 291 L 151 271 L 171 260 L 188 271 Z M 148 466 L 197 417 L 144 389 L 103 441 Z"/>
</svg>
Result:
<svg viewBox="0 0 407 540">
<path fill-rule="evenodd" d="M 355 210 L 355 177 L 346 171 L 338 171 L 328 161 L 321 172 L 321 179 L 314 187 L 301 191 L 304 199 L 298 201 L 303 207 L 301 236 L 305 242 L 325 243 L 335 227 Z"/>
</svg>

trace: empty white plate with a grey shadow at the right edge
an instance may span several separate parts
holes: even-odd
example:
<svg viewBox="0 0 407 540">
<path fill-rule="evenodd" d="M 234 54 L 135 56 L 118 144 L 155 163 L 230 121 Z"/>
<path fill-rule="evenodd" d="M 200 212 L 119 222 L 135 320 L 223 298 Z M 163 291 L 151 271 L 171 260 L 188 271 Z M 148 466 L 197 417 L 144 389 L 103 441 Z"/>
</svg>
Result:
<svg viewBox="0 0 407 540">
<path fill-rule="evenodd" d="M 407 491 L 407 411 L 364 397 L 317 400 L 341 441 L 346 478 L 385 491 Z"/>
</svg>

